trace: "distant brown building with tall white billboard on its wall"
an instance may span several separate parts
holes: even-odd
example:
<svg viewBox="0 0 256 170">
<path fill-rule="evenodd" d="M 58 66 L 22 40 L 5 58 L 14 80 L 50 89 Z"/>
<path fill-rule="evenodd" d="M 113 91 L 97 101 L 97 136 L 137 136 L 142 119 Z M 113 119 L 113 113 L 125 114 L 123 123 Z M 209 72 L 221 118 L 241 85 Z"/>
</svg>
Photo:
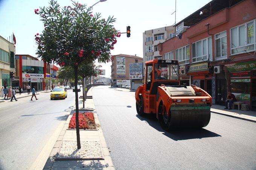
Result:
<svg viewBox="0 0 256 170">
<path fill-rule="evenodd" d="M 113 86 L 130 85 L 129 64 L 142 62 L 143 58 L 126 54 L 113 55 L 113 57 L 111 64 L 111 82 Z"/>
</svg>

